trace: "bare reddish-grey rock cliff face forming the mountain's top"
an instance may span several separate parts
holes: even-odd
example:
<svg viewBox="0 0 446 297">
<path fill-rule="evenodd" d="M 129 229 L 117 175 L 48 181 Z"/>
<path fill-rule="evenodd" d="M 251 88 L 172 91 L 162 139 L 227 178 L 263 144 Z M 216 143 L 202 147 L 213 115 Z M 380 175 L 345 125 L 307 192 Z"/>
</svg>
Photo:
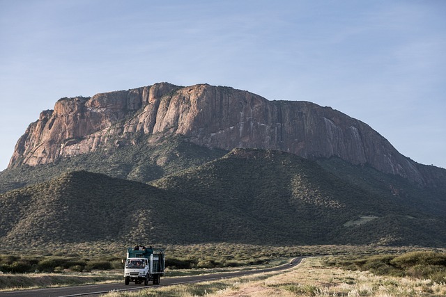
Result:
<svg viewBox="0 0 446 297">
<path fill-rule="evenodd" d="M 43 111 L 15 146 L 9 166 L 132 145 L 141 134 L 181 134 L 230 150 L 258 147 L 307 158 L 339 156 L 424 183 L 417 163 L 364 122 L 310 102 L 268 101 L 228 87 L 169 83 L 60 99 Z"/>
</svg>

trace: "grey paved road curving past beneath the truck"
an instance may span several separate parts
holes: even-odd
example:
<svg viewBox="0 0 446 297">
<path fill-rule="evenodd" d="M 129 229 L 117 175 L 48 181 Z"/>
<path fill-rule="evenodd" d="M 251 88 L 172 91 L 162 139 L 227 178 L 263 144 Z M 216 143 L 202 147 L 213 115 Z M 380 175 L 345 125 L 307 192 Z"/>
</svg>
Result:
<svg viewBox="0 0 446 297">
<path fill-rule="evenodd" d="M 285 264 L 274 268 L 266 268 L 255 271 L 238 271 L 229 273 L 213 273 L 209 275 L 194 275 L 181 278 L 161 278 L 161 284 L 149 285 L 144 287 L 141 284 L 134 284 L 130 282 L 130 285 L 126 286 L 124 281 L 113 284 L 89 284 L 86 286 L 76 287 L 58 287 L 51 289 L 33 289 L 33 290 L 20 290 L 20 291 L 5 291 L 0 292 L 0 297 L 69 297 L 69 296 L 98 296 L 100 294 L 106 294 L 109 291 L 130 291 L 149 289 L 155 287 L 164 287 L 172 284 L 189 284 L 192 282 L 204 282 L 207 280 L 221 280 L 222 278 L 234 278 L 236 276 L 251 275 L 255 273 L 264 273 L 270 271 L 280 271 L 286 268 L 291 268 L 298 265 L 302 261 L 303 257 L 297 257 L 293 259 L 292 264 Z"/>
</svg>

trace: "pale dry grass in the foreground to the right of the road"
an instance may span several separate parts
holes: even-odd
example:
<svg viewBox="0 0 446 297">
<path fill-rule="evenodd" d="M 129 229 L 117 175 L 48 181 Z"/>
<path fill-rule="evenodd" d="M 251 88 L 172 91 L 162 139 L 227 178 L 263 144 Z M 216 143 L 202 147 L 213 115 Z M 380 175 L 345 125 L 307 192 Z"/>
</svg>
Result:
<svg viewBox="0 0 446 297">
<path fill-rule="evenodd" d="M 323 257 L 307 258 L 284 273 L 261 273 L 137 292 L 112 292 L 105 297 L 446 296 L 445 282 L 375 275 L 369 271 L 327 267 L 324 263 Z"/>
</svg>

